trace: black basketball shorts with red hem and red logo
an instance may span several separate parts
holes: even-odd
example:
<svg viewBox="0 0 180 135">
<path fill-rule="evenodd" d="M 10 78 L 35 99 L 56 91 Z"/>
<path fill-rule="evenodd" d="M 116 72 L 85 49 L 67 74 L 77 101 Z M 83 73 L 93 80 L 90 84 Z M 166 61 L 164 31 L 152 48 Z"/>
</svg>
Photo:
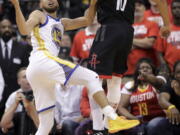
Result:
<svg viewBox="0 0 180 135">
<path fill-rule="evenodd" d="M 127 70 L 134 29 L 125 22 L 102 24 L 90 50 L 88 68 L 101 78 L 121 76 Z"/>
</svg>

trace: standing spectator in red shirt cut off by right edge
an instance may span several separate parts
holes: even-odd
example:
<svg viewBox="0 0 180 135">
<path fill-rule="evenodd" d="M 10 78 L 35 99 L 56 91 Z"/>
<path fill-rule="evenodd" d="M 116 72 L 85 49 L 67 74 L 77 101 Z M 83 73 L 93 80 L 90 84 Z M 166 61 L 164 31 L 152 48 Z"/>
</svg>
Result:
<svg viewBox="0 0 180 135">
<path fill-rule="evenodd" d="M 158 38 L 156 49 L 160 63 L 172 71 L 175 61 L 180 60 L 180 1 L 172 2 L 173 24 L 167 39 Z"/>
</svg>

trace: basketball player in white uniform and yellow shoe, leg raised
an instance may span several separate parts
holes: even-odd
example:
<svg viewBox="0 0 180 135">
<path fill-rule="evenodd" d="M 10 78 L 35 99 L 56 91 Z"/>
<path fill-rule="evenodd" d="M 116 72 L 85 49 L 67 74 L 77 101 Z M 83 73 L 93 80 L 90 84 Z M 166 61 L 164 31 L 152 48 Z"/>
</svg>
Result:
<svg viewBox="0 0 180 135">
<path fill-rule="evenodd" d="M 132 128 L 138 120 L 118 117 L 101 87 L 98 75 L 81 66 L 57 57 L 61 37 L 66 30 L 87 26 L 93 22 L 96 0 L 91 0 L 89 11 L 84 17 L 76 19 L 57 18 L 57 0 L 40 0 L 43 11 L 33 11 L 26 21 L 21 12 L 19 1 L 11 0 L 16 11 L 16 22 L 22 35 L 31 34 L 33 51 L 27 68 L 27 79 L 34 90 L 39 127 L 36 135 L 48 135 L 54 121 L 55 84 L 85 85 L 89 94 L 109 117 L 110 133 Z"/>
</svg>

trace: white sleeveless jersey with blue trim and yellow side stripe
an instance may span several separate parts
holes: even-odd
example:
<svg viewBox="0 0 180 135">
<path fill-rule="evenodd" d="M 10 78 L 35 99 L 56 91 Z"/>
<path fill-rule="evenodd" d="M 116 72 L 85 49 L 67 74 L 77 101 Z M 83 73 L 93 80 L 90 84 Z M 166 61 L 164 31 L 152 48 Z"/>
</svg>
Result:
<svg viewBox="0 0 180 135">
<path fill-rule="evenodd" d="M 60 49 L 64 26 L 61 20 L 46 15 L 46 22 L 36 26 L 31 32 L 32 53 L 46 50 L 51 55 L 57 56 Z"/>
</svg>

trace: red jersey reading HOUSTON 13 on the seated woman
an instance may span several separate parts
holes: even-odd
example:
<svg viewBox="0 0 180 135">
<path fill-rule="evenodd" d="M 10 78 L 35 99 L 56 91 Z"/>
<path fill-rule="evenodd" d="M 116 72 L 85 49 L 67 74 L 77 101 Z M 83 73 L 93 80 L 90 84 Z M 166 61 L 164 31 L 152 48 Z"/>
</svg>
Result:
<svg viewBox="0 0 180 135">
<path fill-rule="evenodd" d="M 155 89 L 148 85 L 146 89 L 139 89 L 132 92 L 130 97 L 131 113 L 135 116 L 142 115 L 145 122 L 154 117 L 164 116 L 164 112 L 159 106 Z"/>
</svg>

